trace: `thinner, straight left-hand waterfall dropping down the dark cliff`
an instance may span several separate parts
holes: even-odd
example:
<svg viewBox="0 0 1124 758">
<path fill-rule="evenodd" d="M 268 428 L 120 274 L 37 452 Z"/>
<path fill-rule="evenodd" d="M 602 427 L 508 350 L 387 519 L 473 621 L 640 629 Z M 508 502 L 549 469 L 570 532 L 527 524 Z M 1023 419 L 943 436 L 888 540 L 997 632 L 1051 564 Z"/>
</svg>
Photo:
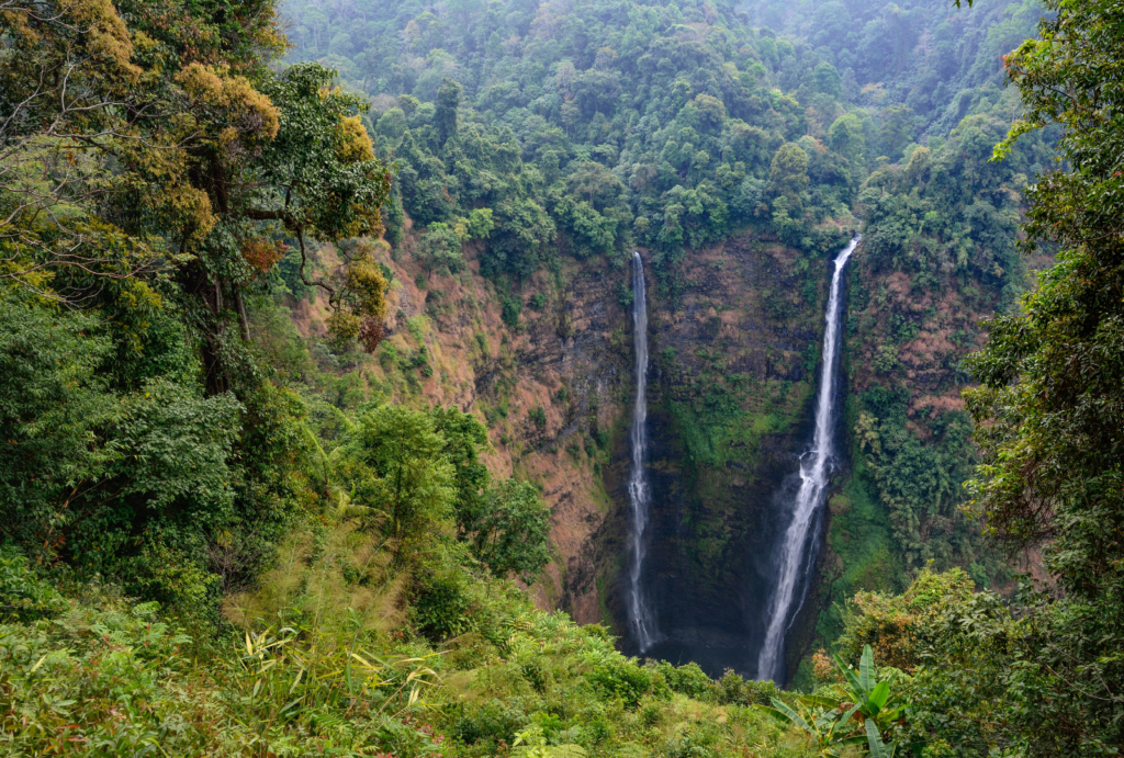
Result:
<svg viewBox="0 0 1124 758">
<path fill-rule="evenodd" d="M 644 652 L 656 641 L 655 617 L 644 597 L 641 568 L 644 565 L 647 529 L 647 477 L 644 460 L 647 454 L 647 298 L 644 291 L 644 262 L 633 252 L 633 325 L 636 346 L 636 404 L 633 408 L 632 467 L 628 472 L 628 499 L 632 504 L 632 567 L 628 579 L 628 623 Z"/>
</svg>

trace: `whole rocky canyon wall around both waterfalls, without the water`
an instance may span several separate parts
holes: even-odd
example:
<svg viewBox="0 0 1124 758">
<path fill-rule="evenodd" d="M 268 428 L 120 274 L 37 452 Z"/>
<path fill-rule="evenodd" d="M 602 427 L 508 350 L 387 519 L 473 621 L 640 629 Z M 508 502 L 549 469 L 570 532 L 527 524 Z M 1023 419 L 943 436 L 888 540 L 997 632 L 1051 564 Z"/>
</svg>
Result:
<svg viewBox="0 0 1124 758">
<path fill-rule="evenodd" d="M 839 236 L 842 245 L 847 231 Z M 393 257 L 381 248 L 391 273 L 387 339 L 374 356 L 354 359 L 374 395 L 455 404 L 487 421 L 493 474 L 540 483 L 553 512 L 556 557 L 532 587 L 536 602 L 581 623 L 606 623 L 635 652 L 625 612 L 629 272 L 559 258 L 514 295 L 524 308 L 511 326 L 501 303 L 513 295 L 481 277 L 474 250 L 466 253 L 464 271 L 427 275 L 408 248 Z M 830 267 L 827 256 L 753 232 L 692 252 L 673 281 L 646 266 L 652 511 L 643 582 L 665 638 L 651 655 L 696 660 L 714 675 L 726 667 L 755 674 L 771 548 L 783 527 L 778 497 L 812 433 Z M 977 538 L 970 546 L 933 539 L 966 533 L 952 481 L 967 476 L 970 460 L 960 449 L 968 421 L 959 365 L 980 344 L 977 322 L 994 294 L 951 276 L 942 287 L 918 289 L 881 270 L 863 246 L 847 278 L 841 466 L 826 548 L 789 633 L 794 674 L 837 633 L 841 602 L 858 590 L 892 590 L 913 568 L 899 549 L 908 538 L 895 511 L 900 499 L 877 465 L 891 472 L 909 455 L 917 466 L 943 455 L 948 492 L 921 514 L 921 529 L 933 545 L 952 545 L 937 556 L 942 565 L 981 549 Z M 317 307 L 301 302 L 294 316 L 306 335 L 323 329 Z M 976 570 L 988 581 L 989 566 Z"/>
</svg>

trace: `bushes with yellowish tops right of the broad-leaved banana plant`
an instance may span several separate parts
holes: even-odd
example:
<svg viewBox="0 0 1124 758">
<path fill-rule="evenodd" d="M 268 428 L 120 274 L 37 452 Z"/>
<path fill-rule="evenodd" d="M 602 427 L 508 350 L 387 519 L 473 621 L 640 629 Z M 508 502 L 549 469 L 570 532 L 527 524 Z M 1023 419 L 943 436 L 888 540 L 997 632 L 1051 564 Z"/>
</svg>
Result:
<svg viewBox="0 0 1124 758">
<path fill-rule="evenodd" d="M 995 593 L 973 593 L 962 573 L 923 573 L 901 597 L 868 595 L 858 602 L 844 639 L 850 648 L 870 640 L 915 667 L 906 688 L 907 731 L 910 739 L 940 746 L 944 752 L 937 755 L 985 756 L 988 745 L 1016 755 L 1057 754 L 1070 739 L 1064 721 L 1049 733 L 1035 724 L 1044 713 L 1061 715 L 1073 706 L 1072 691 L 1053 674 L 1068 654 L 1051 654 L 1048 641 L 1072 617 L 1053 615 L 1057 606 L 1033 593 L 1021 600 L 1032 604 L 1023 605 L 1025 615 L 1016 620 Z M 1112 665 L 1099 661 L 1098 674 L 1105 676 Z M 1093 737 L 1088 755 L 1103 754 L 1104 740 Z"/>
</svg>

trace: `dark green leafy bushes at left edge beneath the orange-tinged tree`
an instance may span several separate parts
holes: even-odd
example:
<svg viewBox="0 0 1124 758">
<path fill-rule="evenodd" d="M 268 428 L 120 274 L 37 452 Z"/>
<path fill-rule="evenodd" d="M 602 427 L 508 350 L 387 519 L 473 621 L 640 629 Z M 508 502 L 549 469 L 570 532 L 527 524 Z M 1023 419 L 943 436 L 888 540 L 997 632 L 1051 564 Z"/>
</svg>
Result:
<svg viewBox="0 0 1124 758">
<path fill-rule="evenodd" d="M 261 417 L 272 402 L 202 396 L 188 378 L 197 364 L 182 355 L 163 356 L 136 390 L 116 391 L 112 332 L 98 321 L 11 298 L 0 308 L 4 537 L 39 560 L 116 574 L 130 592 L 200 602 L 216 578 L 205 546 L 251 515 L 269 530 L 292 504 L 292 492 L 274 487 L 287 476 L 283 458 L 273 471 L 235 459 L 243 418 L 255 423 L 241 445 L 299 451 L 291 438 L 270 440 L 277 432 Z"/>
</svg>

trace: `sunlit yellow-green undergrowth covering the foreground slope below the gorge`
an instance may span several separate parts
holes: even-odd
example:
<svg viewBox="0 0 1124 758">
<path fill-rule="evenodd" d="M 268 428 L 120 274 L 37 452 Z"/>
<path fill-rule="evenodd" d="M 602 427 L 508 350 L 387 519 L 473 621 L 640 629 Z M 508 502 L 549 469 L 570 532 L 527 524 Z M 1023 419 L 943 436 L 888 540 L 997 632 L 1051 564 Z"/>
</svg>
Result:
<svg viewBox="0 0 1124 758">
<path fill-rule="evenodd" d="M 3 554 L 0 754 L 19 756 L 804 756 L 754 706 L 780 693 L 641 663 L 602 627 L 535 610 L 455 545 L 402 563 L 361 519 L 301 530 L 224 621 Z M 455 637 L 416 620 L 433 575 Z M 428 602 L 435 602 L 432 597 Z"/>
</svg>

